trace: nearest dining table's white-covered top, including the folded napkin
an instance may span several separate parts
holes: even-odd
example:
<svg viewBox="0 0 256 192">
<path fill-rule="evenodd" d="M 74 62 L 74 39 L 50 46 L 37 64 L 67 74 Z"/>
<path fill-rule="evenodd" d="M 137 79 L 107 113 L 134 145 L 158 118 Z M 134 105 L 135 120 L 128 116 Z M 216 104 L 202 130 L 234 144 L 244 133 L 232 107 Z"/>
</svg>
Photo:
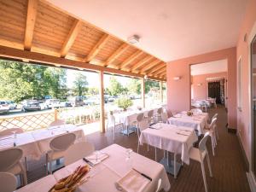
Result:
<svg viewBox="0 0 256 192">
<path fill-rule="evenodd" d="M 127 153 L 129 152 L 129 154 Z M 57 181 L 72 174 L 78 166 L 90 166 L 90 172 L 85 175 L 85 182 L 81 183 L 76 191 L 80 192 L 118 192 L 120 186 L 129 192 L 154 192 L 159 180 L 160 189 L 169 191 L 171 184 L 165 167 L 143 155 L 134 153 L 130 148 L 112 144 L 97 153 L 108 154 L 108 158 L 90 166 L 83 159 L 54 172 L 53 175 L 43 177 L 30 183 L 16 192 L 43 192 L 48 191 Z M 93 156 L 94 154 L 90 154 Z M 42 186 L 42 188 L 41 188 Z M 125 190 L 123 190 L 125 191 Z"/>
</svg>

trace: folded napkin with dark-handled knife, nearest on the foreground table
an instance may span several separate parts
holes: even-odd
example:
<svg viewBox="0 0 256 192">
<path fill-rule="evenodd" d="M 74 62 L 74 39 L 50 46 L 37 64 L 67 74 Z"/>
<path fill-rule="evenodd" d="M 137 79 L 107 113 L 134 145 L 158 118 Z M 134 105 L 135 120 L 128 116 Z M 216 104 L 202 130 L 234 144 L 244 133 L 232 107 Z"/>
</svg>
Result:
<svg viewBox="0 0 256 192">
<path fill-rule="evenodd" d="M 148 178 L 132 169 L 125 177 L 116 182 L 116 187 L 125 192 L 141 192 L 149 182 Z"/>
</svg>

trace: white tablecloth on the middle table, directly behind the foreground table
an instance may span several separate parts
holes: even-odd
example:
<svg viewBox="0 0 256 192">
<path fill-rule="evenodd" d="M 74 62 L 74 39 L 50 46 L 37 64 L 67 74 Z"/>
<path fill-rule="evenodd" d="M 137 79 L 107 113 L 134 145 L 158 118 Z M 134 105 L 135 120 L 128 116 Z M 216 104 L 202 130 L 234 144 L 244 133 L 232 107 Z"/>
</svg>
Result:
<svg viewBox="0 0 256 192">
<path fill-rule="evenodd" d="M 161 125 L 162 128 L 148 128 L 142 131 L 139 139 L 140 144 L 148 143 L 156 148 L 161 148 L 174 154 L 181 154 L 181 160 L 189 165 L 189 148 L 198 140 L 195 131 L 183 126 L 157 125 Z"/>
</svg>

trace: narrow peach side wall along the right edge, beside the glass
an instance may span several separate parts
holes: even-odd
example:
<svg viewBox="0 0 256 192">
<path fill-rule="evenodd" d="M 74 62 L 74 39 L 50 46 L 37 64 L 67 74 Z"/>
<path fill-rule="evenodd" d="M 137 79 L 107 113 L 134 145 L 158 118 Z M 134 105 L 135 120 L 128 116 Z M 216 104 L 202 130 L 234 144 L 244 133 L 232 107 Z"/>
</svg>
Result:
<svg viewBox="0 0 256 192">
<path fill-rule="evenodd" d="M 247 3 L 247 10 L 244 20 L 241 25 L 240 35 L 236 45 L 237 61 L 241 57 L 241 75 L 242 75 L 242 101 L 241 111 L 237 111 L 237 127 L 238 134 L 241 138 L 242 146 L 247 154 L 249 160 L 250 154 L 250 128 L 249 128 L 249 46 L 248 42 L 243 41 L 243 37 L 247 34 L 247 37 L 252 31 L 253 24 L 256 21 L 256 0 L 249 0 Z"/>
</svg>

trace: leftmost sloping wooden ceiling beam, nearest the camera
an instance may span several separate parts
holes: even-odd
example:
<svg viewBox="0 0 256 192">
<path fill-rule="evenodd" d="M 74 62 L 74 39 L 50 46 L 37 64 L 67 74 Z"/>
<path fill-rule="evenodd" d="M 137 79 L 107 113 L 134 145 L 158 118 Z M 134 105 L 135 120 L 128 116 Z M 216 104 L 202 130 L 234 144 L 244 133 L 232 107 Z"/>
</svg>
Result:
<svg viewBox="0 0 256 192">
<path fill-rule="evenodd" d="M 36 17 L 38 12 L 38 0 L 28 0 L 26 12 L 26 29 L 24 38 L 24 49 L 30 50 L 32 47 L 32 39 Z"/>
</svg>

